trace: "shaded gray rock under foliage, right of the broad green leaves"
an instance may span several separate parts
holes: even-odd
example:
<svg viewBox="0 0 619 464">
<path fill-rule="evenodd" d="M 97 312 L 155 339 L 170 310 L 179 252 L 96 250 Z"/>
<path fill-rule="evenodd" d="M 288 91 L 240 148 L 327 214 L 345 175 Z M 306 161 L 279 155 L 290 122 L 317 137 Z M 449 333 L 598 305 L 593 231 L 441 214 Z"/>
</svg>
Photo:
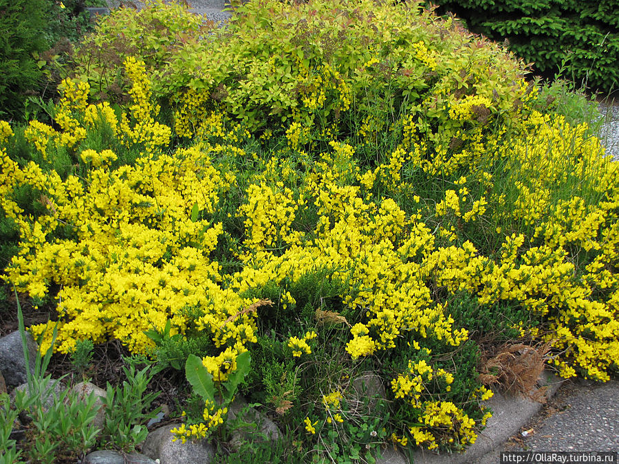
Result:
<svg viewBox="0 0 619 464">
<path fill-rule="evenodd" d="M 248 402 L 240 395 L 237 395 L 228 408 L 228 421 L 234 421 L 237 418 L 250 426 L 241 426 L 237 430 L 232 430 L 230 446 L 235 450 L 248 441 L 265 441 L 265 439 L 275 441 L 281 437 L 275 423 L 256 408 L 248 408 Z"/>
</svg>

